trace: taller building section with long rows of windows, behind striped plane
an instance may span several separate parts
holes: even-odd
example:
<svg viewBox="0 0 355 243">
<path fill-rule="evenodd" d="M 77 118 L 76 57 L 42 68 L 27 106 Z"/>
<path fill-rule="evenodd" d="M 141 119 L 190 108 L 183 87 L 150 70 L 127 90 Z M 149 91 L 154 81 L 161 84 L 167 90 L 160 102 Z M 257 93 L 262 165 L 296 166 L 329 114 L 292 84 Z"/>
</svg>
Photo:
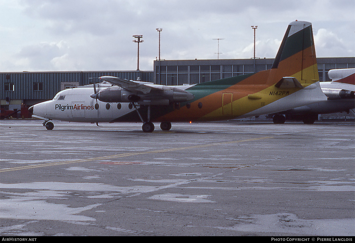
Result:
<svg viewBox="0 0 355 243">
<path fill-rule="evenodd" d="M 254 67 L 253 59 L 154 61 L 154 83 L 199 84 L 267 70 L 273 62 L 274 59 L 256 59 Z M 354 68 L 354 62 L 354 57 L 317 58 L 320 81 L 331 81 L 329 70 Z"/>
</svg>

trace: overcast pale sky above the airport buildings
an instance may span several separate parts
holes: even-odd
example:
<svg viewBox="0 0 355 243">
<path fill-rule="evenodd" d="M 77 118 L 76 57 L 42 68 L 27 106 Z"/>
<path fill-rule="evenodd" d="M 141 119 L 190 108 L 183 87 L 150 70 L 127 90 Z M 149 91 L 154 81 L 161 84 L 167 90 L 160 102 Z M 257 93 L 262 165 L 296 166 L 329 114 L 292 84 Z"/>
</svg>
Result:
<svg viewBox="0 0 355 243">
<path fill-rule="evenodd" d="M 0 0 L 0 72 L 153 70 L 165 60 L 274 58 L 312 23 L 317 57 L 355 56 L 354 0 Z"/>
</svg>

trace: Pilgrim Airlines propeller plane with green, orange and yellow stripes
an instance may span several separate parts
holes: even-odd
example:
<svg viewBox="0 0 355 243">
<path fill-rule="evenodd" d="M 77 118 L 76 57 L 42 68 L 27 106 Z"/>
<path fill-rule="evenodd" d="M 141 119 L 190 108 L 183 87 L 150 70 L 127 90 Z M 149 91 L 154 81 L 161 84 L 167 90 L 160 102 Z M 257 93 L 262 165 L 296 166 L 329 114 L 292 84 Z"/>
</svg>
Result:
<svg viewBox="0 0 355 243">
<path fill-rule="evenodd" d="M 118 77 L 100 77 L 109 87 L 62 90 L 53 100 L 29 108 L 53 129 L 50 120 L 68 122 L 139 122 L 153 132 L 171 122 L 204 122 L 277 113 L 327 100 L 319 77 L 312 24 L 291 22 L 272 68 L 206 83 L 166 86 Z M 134 108 L 134 109 L 133 109 Z"/>
</svg>

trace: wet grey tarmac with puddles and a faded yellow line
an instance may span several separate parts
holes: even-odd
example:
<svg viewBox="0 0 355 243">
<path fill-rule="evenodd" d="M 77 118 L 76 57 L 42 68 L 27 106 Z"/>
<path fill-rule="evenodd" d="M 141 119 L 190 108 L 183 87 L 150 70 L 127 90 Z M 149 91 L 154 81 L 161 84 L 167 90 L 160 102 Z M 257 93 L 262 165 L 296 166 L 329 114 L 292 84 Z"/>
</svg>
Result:
<svg viewBox="0 0 355 243">
<path fill-rule="evenodd" d="M 352 122 L 1 120 L 1 236 L 354 236 Z"/>
</svg>

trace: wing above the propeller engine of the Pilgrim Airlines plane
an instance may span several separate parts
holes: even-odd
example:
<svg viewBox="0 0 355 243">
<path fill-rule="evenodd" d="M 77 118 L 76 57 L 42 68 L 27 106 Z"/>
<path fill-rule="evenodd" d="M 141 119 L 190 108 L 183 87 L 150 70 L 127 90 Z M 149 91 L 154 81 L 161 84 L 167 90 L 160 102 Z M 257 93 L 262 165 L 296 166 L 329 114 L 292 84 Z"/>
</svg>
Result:
<svg viewBox="0 0 355 243">
<path fill-rule="evenodd" d="M 100 77 L 100 79 L 105 80 L 111 84 L 120 86 L 131 92 L 138 91 L 143 94 L 148 94 L 149 92 L 151 92 L 152 89 L 162 90 L 161 88 L 157 87 L 157 85 L 148 82 L 133 81 L 133 80 L 127 80 L 127 79 L 111 77 L 111 76 L 102 76 Z"/>
</svg>

